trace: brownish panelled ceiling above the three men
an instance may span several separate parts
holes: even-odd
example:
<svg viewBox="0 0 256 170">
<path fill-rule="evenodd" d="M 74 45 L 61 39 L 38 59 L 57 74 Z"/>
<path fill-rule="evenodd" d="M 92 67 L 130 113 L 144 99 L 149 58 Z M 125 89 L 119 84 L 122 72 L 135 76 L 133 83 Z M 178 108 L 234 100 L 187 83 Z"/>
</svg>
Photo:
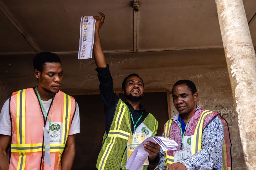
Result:
<svg viewBox="0 0 256 170">
<path fill-rule="evenodd" d="M 256 45 L 256 1 L 244 0 Z M 0 54 L 77 53 L 81 16 L 106 15 L 105 52 L 222 47 L 214 0 L 0 0 Z M 137 23 L 137 25 L 134 23 Z M 135 27 L 134 27 L 135 26 Z"/>
</svg>

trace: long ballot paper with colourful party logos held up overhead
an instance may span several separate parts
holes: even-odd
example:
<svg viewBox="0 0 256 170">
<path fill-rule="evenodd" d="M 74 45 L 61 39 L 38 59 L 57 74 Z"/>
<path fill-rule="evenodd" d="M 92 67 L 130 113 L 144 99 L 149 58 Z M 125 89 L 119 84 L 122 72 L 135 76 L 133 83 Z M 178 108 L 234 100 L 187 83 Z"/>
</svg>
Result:
<svg viewBox="0 0 256 170">
<path fill-rule="evenodd" d="M 78 60 L 91 58 L 92 56 L 95 22 L 93 16 L 83 16 L 81 18 Z"/>
</svg>

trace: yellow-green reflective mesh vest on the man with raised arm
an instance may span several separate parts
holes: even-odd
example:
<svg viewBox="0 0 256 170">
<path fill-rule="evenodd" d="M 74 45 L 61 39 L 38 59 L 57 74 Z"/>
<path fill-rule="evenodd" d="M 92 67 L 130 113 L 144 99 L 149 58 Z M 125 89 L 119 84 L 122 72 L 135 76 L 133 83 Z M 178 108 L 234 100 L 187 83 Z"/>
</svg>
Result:
<svg viewBox="0 0 256 170">
<path fill-rule="evenodd" d="M 153 132 L 152 136 L 156 136 L 158 122 L 155 117 L 149 113 L 143 123 Z M 119 99 L 109 133 L 105 132 L 103 136 L 97 169 L 126 170 L 127 141 L 131 133 L 130 111 L 127 105 Z M 143 170 L 147 168 L 148 166 L 143 166 Z"/>
</svg>

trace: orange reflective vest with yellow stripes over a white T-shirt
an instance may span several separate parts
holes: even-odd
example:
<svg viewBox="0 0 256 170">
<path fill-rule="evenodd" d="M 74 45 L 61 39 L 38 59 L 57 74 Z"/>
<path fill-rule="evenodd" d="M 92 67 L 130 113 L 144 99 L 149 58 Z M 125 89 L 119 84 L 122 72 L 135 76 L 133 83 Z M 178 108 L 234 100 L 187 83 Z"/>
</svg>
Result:
<svg viewBox="0 0 256 170">
<path fill-rule="evenodd" d="M 75 99 L 62 91 L 56 93 L 48 112 L 51 118 L 51 167 L 44 162 L 44 132 L 49 122 L 41 109 L 35 89 L 13 92 L 10 98 L 12 125 L 10 170 L 60 170 L 61 155 L 75 112 Z M 51 113 L 50 113 L 51 112 Z"/>
</svg>

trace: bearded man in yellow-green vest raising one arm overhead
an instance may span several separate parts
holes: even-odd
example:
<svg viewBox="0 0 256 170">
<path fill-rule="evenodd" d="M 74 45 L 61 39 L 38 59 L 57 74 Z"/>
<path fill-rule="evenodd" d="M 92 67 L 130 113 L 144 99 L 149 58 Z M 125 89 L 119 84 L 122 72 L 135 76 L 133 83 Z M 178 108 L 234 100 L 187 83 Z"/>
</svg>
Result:
<svg viewBox="0 0 256 170">
<path fill-rule="evenodd" d="M 143 80 L 137 74 L 127 76 L 122 84 L 127 101 L 122 101 L 113 91 L 113 80 L 103 54 L 99 29 L 105 16 L 96 16 L 93 54 L 100 82 L 100 95 L 105 106 L 106 127 L 102 147 L 97 160 L 99 170 L 124 170 L 127 163 L 127 141 L 130 134 L 144 132 L 146 137 L 156 136 L 158 122 L 140 104 L 144 95 Z M 136 134 L 136 133 L 135 133 Z M 144 145 L 149 153 L 149 163 L 156 163 L 160 146 L 152 142 Z M 143 170 L 148 166 L 143 166 Z"/>
</svg>

